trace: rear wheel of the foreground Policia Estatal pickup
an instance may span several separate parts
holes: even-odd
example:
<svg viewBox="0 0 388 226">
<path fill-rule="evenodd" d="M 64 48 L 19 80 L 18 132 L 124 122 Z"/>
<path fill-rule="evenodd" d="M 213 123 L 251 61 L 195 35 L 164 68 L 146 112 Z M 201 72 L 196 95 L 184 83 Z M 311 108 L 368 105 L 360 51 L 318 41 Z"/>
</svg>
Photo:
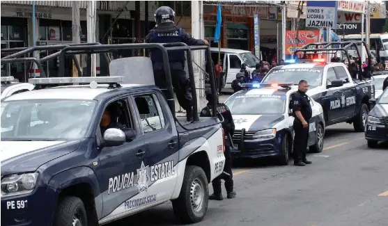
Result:
<svg viewBox="0 0 388 226">
<path fill-rule="evenodd" d="M 209 185 L 205 172 L 198 166 L 186 166 L 178 199 L 173 200 L 175 216 L 183 223 L 198 223 L 208 211 Z"/>
</svg>

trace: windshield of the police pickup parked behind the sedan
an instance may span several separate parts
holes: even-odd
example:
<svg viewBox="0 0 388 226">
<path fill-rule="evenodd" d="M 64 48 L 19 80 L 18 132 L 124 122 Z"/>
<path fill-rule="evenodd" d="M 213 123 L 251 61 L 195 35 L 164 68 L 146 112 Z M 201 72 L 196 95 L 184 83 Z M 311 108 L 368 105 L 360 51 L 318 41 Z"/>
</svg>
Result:
<svg viewBox="0 0 388 226">
<path fill-rule="evenodd" d="M 290 83 L 295 85 L 300 80 L 306 80 L 309 86 L 320 86 L 322 84 L 323 68 L 290 68 L 273 69 L 268 72 L 262 83 Z"/>
</svg>

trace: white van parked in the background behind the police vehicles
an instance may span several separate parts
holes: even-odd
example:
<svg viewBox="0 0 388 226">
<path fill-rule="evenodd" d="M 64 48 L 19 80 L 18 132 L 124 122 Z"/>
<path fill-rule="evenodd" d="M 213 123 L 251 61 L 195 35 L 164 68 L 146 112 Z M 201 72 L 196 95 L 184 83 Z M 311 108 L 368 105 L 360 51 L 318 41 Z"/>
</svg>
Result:
<svg viewBox="0 0 388 226">
<path fill-rule="evenodd" d="M 212 60 L 215 65 L 218 60 L 218 48 L 210 48 L 212 52 Z M 222 68 L 224 69 L 224 84 L 223 88 L 231 88 L 231 83 L 235 80 L 235 75 L 240 72 L 242 63 L 247 64 L 247 70 L 253 72 L 256 68 L 256 63 L 259 59 L 250 51 L 242 49 L 220 49 Z M 261 56 L 261 58 L 263 58 Z"/>
</svg>

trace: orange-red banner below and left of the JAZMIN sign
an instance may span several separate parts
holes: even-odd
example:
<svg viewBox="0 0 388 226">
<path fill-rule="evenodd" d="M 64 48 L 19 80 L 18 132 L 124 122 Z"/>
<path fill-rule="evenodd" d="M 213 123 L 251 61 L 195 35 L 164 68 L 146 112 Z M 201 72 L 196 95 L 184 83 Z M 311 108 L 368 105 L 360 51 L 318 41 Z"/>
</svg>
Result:
<svg viewBox="0 0 388 226">
<path fill-rule="evenodd" d="M 296 31 L 286 31 L 286 55 L 293 54 L 295 51 Z M 309 45 L 314 42 L 319 42 L 319 30 L 298 31 L 297 49 Z"/>
</svg>

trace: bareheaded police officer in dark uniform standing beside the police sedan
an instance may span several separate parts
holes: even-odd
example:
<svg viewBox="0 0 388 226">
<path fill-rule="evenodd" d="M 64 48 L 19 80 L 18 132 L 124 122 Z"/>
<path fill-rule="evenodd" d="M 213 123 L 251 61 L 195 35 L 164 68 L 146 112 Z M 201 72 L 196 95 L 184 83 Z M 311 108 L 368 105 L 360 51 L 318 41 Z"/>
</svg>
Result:
<svg viewBox="0 0 388 226">
<path fill-rule="evenodd" d="M 291 104 L 293 108 L 293 116 L 295 117 L 293 127 L 295 131 L 294 138 L 294 165 L 306 166 L 311 164 L 307 161 L 307 142 L 309 140 L 309 120 L 312 116 L 312 109 L 309 101 L 309 96 L 306 95 L 309 85 L 307 81 L 301 80 L 298 84 L 298 90 L 294 93 Z"/>
</svg>

